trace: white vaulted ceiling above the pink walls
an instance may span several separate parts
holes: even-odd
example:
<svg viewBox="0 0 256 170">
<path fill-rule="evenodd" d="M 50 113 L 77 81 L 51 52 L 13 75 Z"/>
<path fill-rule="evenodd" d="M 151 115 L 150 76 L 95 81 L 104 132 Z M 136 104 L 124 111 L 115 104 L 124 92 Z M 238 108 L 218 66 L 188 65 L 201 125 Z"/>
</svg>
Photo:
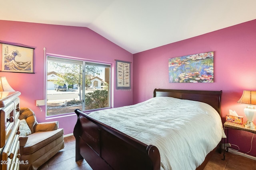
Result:
<svg viewBox="0 0 256 170">
<path fill-rule="evenodd" d="M 254 19 L 256 0 L 0 0 L 0 20 L 88 27 L 133 54 Z"/>
</svg>

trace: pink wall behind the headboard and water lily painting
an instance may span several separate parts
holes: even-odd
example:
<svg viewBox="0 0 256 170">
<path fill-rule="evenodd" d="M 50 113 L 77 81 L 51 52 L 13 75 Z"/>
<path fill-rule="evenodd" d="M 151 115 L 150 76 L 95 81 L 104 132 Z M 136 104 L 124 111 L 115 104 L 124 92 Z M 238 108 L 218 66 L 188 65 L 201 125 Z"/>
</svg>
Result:
<svg viewBox="0 0 256 170">
<path fill-rule="evenodd" d="M 243 109 L 246 105 L 237 101 L 243 90 L 256 90 L 255 30 L 256 20 L 252 20 L 134 54 L 133 104 L 152 98 L 154 88 L 223 90 L 222 117 L 229 109 L 245 116 Z M 214 83 L 169 83 L 168 59 L 208 51 L 214 51 Z M 248 152 L 251 138 L 251 133 L 233 131 L 229 142 Z M 256 147 L 250 153 L 256 156 Z"/>
</svg>

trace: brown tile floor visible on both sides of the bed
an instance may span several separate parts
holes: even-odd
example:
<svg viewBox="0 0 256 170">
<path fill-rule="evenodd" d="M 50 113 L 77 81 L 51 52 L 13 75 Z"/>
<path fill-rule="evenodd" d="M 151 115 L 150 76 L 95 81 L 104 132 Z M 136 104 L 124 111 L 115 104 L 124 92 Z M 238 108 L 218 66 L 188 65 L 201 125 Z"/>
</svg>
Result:
<svg viewBox="0 0 256 170">
<path fill-rule="evenodd" d="M 92 170 L 85 160 L 75 161 L 75 138 L 64 138 L 65 148 L 50 158 L 38 170 Z M 226 153 L 226 159 L 222 160 L 222 154 L 216 152 L 208 162 L 204 170 L 256 170 L 256 160 L 244 156 Z"/>
</svg>

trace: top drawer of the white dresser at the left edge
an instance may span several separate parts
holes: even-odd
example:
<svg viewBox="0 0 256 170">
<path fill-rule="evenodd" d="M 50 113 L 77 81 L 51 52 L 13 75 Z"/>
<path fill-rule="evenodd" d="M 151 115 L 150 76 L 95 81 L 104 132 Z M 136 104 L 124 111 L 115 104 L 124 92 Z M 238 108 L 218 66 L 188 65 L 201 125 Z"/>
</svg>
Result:
<svg viewBox="0 0 256 170">
<path fill-rule="evenodd" d="M 0 110 L 0 148 L 4 147 L 12 129 L 14 128 L 14 114 L 14 102 L 11 102 Z"/>
</svg>

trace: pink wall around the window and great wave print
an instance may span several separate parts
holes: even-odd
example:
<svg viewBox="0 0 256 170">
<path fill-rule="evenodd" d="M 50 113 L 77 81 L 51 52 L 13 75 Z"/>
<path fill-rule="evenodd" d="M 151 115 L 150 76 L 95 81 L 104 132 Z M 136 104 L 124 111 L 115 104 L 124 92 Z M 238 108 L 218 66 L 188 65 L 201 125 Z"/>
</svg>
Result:
<svg viewBox="0 0 256 170">
<path fill-rule="evenodd" d="M 0 72 L 0 76 L 6 76 L 10 86 L 12 86 L 14 90 L 21 92 L 21 107 L 30 107 L 33 109 L 38 122 L 59 121 L 60 128 L 64 128 L 65 134 L 73 133 L 77 119 L 76 115 L 46 120 L 45 106 L 42 107 L 42 112 L 36 107 L 36 100 L 42 100 L 45 96 L 44 47 L 46 48 L 46 53 L 110 63 L 113 68 L 112 75 L 114 75 L 115 59 L 133 63 L 133 55 L 131 53 L 85 27 L 3 20 L 0 20 L 0 25 L 1 41 L 20 43 L 35 48 L 35 74 Z M 2 61 L 0 61 L 0 63 L 1 62 Z M 114 82 L 115 78 L 112 79 L 113 106 L 120 107 L 132 104 L 132 92 L 116 91 Z"/>
</svg>

